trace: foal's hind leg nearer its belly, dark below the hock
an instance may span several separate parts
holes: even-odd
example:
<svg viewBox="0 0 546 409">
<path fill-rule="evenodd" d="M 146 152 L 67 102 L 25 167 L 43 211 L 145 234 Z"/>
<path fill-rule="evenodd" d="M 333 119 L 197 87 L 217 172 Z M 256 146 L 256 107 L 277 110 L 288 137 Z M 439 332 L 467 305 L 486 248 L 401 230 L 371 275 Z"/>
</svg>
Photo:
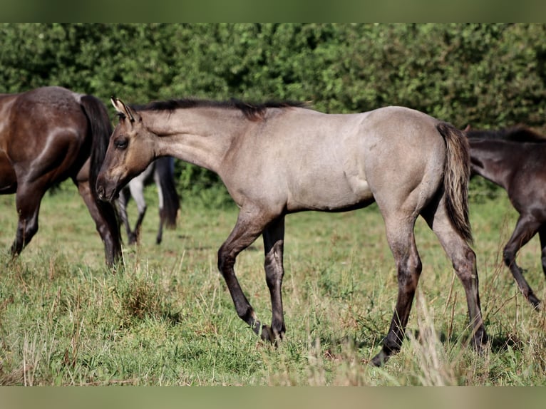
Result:
<svg viewBox="0 0 546 409">
<path fill-rule="evenodd" d="M 393 252 L 398 270 L 398 299 L 391 327 L 383 341 L 383 348 L 371 360 L 371 364 L 374 366 L 383 365 L 391 355 L 400 351 L 402 346 L 411 304 L 422 269 L 413 234 L 414 223 L 415 220 L 408 222 L 407 217 L 403 216 L 385 219 L 388 244 Z"/>
</svg>

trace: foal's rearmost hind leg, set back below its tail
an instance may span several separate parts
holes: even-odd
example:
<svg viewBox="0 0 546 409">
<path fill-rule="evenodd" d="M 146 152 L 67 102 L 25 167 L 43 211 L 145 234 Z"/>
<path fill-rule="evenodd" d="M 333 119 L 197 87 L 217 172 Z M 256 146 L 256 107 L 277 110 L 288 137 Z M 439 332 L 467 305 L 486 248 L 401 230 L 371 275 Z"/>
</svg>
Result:
<svg viewBox="0 0 546 409">
<path fill-rule="evenodd" d="M 483 317 L 480 306 L 480 294 L 478 291 L 478 271 L 476 269 L 476 255 L 473 249 L 465 242 L 465 239 L 453 228 L 446 214 L 443 202 L 435 209 L 435 213 L 423 214 L 428 225 L 436 233 L 445 253 L 453 264 L 455 274 L 463 284 L 468 305 L 470 328 L 473 334 L 473 347 L 481 351 L 488 342 L 488 336 L 483 325 Z"/>
</svg>

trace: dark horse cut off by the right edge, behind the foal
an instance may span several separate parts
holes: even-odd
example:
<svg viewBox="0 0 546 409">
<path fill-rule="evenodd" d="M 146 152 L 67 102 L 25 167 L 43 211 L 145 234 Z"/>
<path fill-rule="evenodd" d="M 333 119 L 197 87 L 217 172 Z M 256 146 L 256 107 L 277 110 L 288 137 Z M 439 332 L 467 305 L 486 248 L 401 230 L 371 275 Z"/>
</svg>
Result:
<svg viewBox="0 0 546 409">
<path fill-rule="evenodd" d="M 538 308 L 537 299 L 515 259 L 535 234 L 542 248 L 542 271 L 546 276 L 546 139 L 525 126 L 500 130 L 467 128 L 470 169 L 473 175 L 503 187 L 520 214 L 504 247 L 503 259 L 522 294 Z"/>
</svg>

